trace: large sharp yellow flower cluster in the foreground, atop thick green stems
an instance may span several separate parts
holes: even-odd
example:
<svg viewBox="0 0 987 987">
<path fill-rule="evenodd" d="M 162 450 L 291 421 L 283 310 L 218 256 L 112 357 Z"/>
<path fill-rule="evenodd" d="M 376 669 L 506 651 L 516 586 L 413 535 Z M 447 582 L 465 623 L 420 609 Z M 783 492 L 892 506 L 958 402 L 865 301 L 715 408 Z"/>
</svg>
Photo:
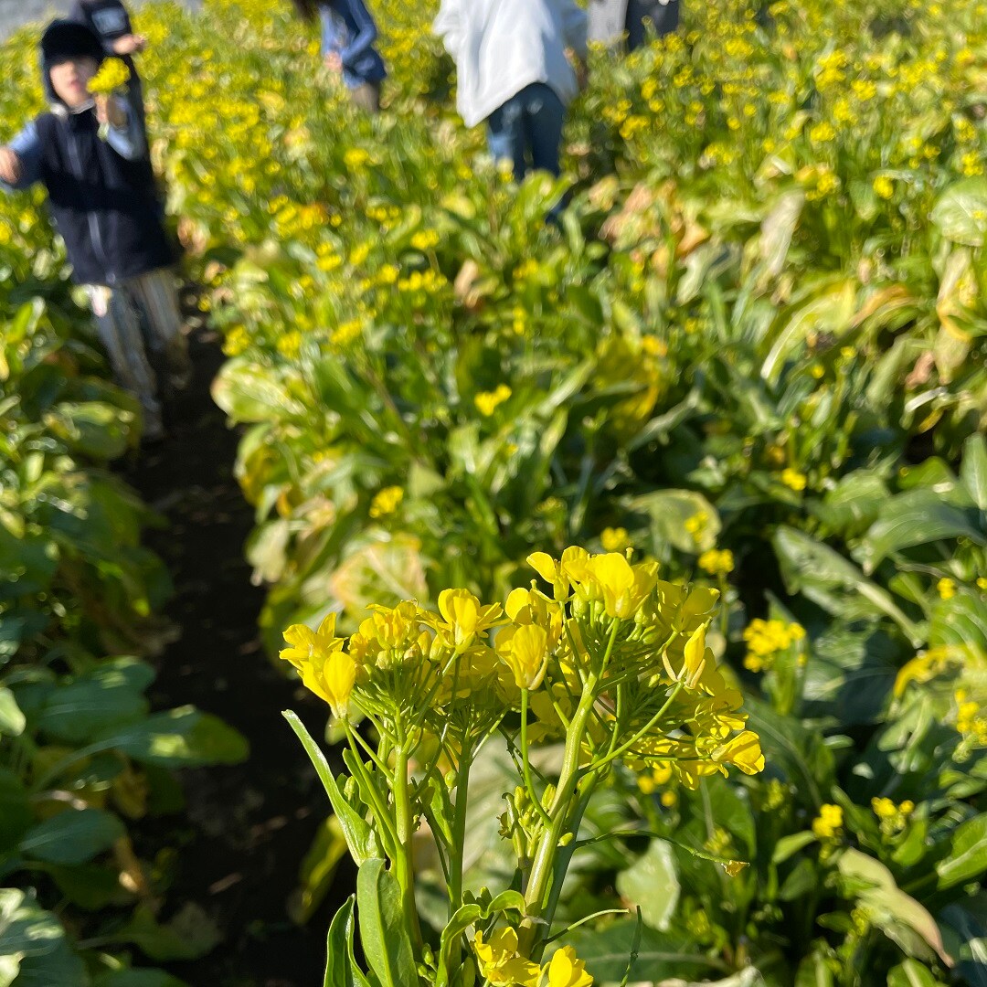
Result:
<svg viewBox="0 0 987 987">
<path fill-rule="evenodd" d="M 569 548 L 560 560 L 528 561 L 549 593 L 518 588 L 501 607 L 446 589 L 437 612 L 412 602 L 372 607 L 348 643 L 335 638 L 332 619 L 318 632 L 289 628 L 281 656 L 337 715 L 350 701 L 385 718 L 427 710 L 426 728 L 448 734 L 481 712 L 495 722 L 518 709 L 523 690 L 538 739 L 565 735 L 591 712 L 589 763 L 620 757 L 688 788 L 728 765 L 763 769 L 740 693 L 706 646 L 715 590 L 662 582 L 655 563 L 617 553 Z"/>
</svg>

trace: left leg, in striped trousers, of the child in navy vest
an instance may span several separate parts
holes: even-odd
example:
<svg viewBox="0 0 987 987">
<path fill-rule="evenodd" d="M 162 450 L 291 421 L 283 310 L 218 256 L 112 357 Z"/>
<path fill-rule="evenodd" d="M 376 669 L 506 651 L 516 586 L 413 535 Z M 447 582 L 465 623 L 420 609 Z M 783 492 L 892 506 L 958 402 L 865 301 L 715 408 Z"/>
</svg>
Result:
<svg viewBox="0 0 987 987">
<path fill-rule="evenodd" d="M 89 285 L 86 290 L 116 383 L 140 402 L 144 411 L 145 437 L 162 438 L 165 428 L 157 399 L 157 381 L 144 349 L 140 314 L 125 291 L 113 291 L 99 285 Z"/>
</svg>

